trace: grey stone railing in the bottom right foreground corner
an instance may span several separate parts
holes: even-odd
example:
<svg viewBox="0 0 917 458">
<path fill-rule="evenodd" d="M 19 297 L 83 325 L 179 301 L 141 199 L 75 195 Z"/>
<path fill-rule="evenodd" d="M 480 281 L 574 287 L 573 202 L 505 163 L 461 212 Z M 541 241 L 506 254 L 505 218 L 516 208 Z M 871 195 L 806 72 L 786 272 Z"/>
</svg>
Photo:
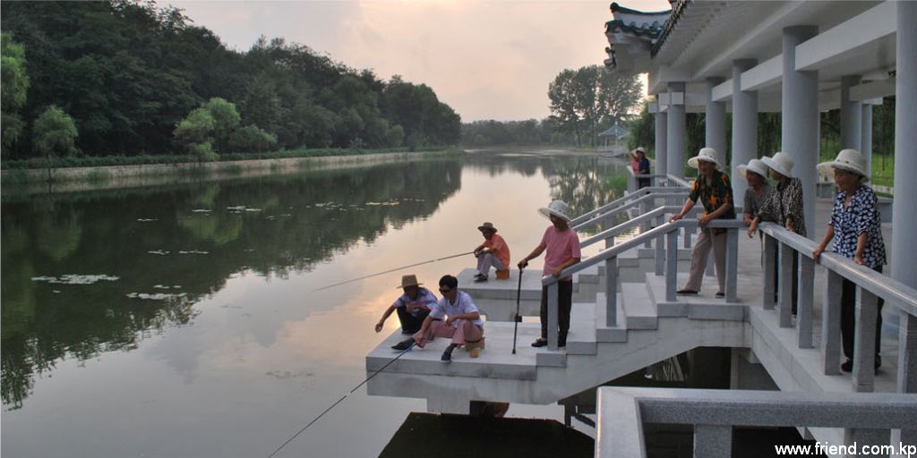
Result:
<svg viewBox="0 0 917 458">
<path fill-rule="evenodd" d="M 734 425 L 849 432 L 847 444 L 816 442 L 823 447 L 844 446 L 843 452 L 819 451 L 810 445 L 815 453 L 798 454 L 917 453 L 917 397 L 907 394 L 601 387 L 596 407 L 595 451 L 602 458 L 646 457 L 647 423 L 692 425 L 694 456 L 703 458 L 732 456 Z M 900 430 L 900 443 L 891 442 L 892 430 Z"/>
</svg>

